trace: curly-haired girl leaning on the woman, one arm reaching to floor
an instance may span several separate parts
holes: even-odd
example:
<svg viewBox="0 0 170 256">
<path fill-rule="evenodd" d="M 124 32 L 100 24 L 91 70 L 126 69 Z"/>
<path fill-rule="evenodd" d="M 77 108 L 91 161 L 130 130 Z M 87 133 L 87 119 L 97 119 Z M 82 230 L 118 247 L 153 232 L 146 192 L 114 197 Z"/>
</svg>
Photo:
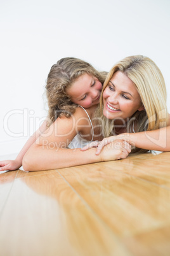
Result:
<svg viewBox="0 0 170 256">
<path fill-rule="evenodd" d="M 4 160 L 0 162 L 0 171 L 20 168 L 22 166 L 23 155 L 35 143 L 40 134 L 46 131 L 49 125 L 55 122 L 56 118 L 63 116 L 70 117 L 74 114 L 77 104 L 84 108 L 91 108 L 89 111 L 92 113 L 93 106 L 100 101 L 101 89 L 106 74 L 106 72 L 96 71 L 91 64 L 80 59 L 63 58 L 58 60 L 51 67 L 46 83 L 46 96 L 49 106 L 48 118 L 46 118 L 41 127 L 29 138 L 27 143 L 25 143 L 15 160 Z M 79 110 L 79 113 L 82 113 L 81 118 L 83 115 L 85 119 L 88 117 L 83 109 Z M 85 122 L 85 125 L 88 125 L 88 122 L 89 118 Z M 93 140 L 93 138 L 91 139 Z M 97 138 L 101 139 L 101 136 Z M 62 139 L 60 142 L 63 142 Z M 79 138 L 77 141 L 74 141 L 74 147 L 83 145 L 79 143 Z M 73 143 L 70 146 L 73 146 Z"/>
</svg>

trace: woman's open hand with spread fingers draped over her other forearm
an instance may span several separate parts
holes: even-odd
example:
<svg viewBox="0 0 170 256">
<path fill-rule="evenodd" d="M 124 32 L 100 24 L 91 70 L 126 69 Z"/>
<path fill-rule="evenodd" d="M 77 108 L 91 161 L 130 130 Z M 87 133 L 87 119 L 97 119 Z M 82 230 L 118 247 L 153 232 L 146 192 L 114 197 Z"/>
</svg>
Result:
<svg viewBox="0 0 170 256">
<path fill-rule="evenodd" d="M 93 142 L 89 143 L 88 145 L 84 146 L 83 148 L 81 148 L 81 150 L 86 151 L 89 148 L 97 148 L 96 155 L 99 155 L 103 146 L 106 146 L 109 143 L 111 143 L 112 141 L 115 141 L 115 139 L 117 139 L 117 136 L 110 136 L 108 138 L 102 139 L 102 141 L 93 141 Z"/>
</svg>

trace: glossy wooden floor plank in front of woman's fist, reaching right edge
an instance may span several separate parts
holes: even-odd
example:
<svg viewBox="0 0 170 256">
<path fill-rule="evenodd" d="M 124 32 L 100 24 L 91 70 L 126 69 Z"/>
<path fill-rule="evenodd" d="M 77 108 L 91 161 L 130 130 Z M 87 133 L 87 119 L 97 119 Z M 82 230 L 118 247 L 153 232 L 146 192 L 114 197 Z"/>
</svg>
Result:
<svg viewBox="0 0 170 256">
<path fill-rule="evenodd" d="M 108 169 L 107 163 L 58 172 L 117 236 L 150 231 L 170 222 L 170 190 Z"/>
</svg>

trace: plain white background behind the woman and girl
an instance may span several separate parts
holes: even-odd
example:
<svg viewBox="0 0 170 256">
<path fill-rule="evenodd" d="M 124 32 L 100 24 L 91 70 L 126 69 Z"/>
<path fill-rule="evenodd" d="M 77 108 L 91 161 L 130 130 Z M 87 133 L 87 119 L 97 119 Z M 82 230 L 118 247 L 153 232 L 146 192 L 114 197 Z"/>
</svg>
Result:
<svg viewBox="0 0 170 256">
<path fill-rule="evenodd" d="M 108 71 L 147 55 L 164 75 L 170 111 L 169 13 L 169 0 L 2 0 L 0 155 L 18 152 L 46 116 L 46 78 L 62 57 Z"/>
</svg>

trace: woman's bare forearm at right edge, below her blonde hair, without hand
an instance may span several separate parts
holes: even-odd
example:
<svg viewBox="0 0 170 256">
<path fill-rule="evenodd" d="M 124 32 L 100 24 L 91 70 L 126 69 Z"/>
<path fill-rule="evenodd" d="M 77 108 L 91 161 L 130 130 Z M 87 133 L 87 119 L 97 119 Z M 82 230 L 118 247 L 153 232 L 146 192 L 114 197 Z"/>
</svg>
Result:
<svg viewBox="0 0 170 256">
<path fill-rule="evenodd" d="M 146 150 L 170 151 L 170 126 L 154 131 L 120 134 L 117 137 Z"/>
</svg>

